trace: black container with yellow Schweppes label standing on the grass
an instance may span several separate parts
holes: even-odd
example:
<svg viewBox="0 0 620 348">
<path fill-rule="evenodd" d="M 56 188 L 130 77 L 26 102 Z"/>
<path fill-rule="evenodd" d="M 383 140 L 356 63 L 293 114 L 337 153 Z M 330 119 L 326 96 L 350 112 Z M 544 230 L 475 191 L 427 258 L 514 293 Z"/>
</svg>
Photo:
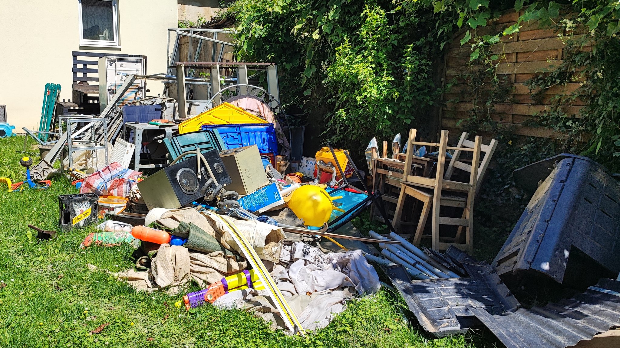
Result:
<svg viewBox="0 0 620 348">
<path fill-rule="evenodd" d="M 94 193 L 61 194 L 60 219 L 58 225 L 67 231 L 73 227 L 84 227 L 97 222 L 97 204 L 99 196 Z"/>
</svg>

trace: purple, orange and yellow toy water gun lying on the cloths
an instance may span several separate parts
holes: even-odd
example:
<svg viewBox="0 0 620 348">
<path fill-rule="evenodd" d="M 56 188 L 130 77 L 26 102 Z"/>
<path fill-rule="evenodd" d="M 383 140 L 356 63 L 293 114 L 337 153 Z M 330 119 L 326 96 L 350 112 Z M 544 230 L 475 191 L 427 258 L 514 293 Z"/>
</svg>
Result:
<svg viewBox="0 0 620 348">
<path fill-rule="evenodd" d="M 265 289 L 263 284 L 259 281 L 258 274 L 254 272 L 254 269 L 250 271 L 244 270 L 232 276 L 222 278 L 221 281 L 211 284 L 210 287 L 204 290 L 190 292 L 183 297 L 183 302 L 185 303 L 185 308 L 189 310 L 190 308 L 201 306 L 205 302 L 213 303 L 219 297 L 231 291 L 250 288 L 256 290 Z"/>
</svg>

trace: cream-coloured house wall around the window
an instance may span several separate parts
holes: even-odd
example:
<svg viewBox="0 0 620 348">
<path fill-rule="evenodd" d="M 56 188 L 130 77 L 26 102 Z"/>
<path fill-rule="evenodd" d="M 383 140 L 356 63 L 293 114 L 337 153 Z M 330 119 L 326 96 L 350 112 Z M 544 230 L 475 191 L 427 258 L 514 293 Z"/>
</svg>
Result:
<svg viewBox="0 0 620 348">
<path fill-rule="evenodd" d="M 118 0 L 120 49 L 80 46 L 78 4 L 0 1 L 0 104 L 16 131 L 38 129 L 46 83 L 61 85 L 61 100 L 73 98 L 71 51 L 140 54 L 147 56 L 147 74 L 166 72 L 167 28 L 177 27 L 177 0 Z M 148 89 L 157 95 L 163 86 L 148 82 Z"/>
</svg>

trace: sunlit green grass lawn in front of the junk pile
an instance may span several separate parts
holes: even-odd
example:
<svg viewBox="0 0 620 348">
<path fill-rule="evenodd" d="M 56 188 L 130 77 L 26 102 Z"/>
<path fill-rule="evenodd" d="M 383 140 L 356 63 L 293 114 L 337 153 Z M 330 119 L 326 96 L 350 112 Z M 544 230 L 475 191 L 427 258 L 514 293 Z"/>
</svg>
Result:
<svg viewBox="0 0 620 348">
<path fill-rule="evenodd" d="M 24 178 L 21 136 L 0 139 L 0 176 Z M 38 150 L 32 157 L 38 162 Z M 180 297 L 136 292 L 87 264 L 119 271 L 133 267 L 129 246 L 79 243 L 89 228 L 38 241 L 27 224 L 58 230 L 58 195 L 77 193 L 64 177 L 50 189 L 0 190 L 0 347 L 485 347 L 478 335 L 433 339 L 417 327 L 387 290 L 349 303 L 325 329 L 306 337 L 272 331 L 249 313 L 205 305 L 177 309 Z M 197 290 L 197 289 L 190 289 Z M 411 322 L 408 324 L 408 322 Z M 92 334 L 102 324 L 101 333 Z M 488 334 L 487 334 L 488 336 Z"/>
</svg>

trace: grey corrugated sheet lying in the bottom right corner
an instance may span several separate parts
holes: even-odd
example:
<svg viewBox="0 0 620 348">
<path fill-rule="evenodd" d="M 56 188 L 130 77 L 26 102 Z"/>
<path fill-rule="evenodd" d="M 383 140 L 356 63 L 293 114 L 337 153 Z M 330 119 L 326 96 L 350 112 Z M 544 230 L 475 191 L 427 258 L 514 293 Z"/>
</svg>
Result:
<svg viewBox="0 0 620 348">
<path fill-rule="evenodd" d="M 620 282 L 602 278 L 583 294 L 545 307 L 490 314 L 467 306 L 508 348 L 564 348 L 620 326 Z"/>
</svg>

